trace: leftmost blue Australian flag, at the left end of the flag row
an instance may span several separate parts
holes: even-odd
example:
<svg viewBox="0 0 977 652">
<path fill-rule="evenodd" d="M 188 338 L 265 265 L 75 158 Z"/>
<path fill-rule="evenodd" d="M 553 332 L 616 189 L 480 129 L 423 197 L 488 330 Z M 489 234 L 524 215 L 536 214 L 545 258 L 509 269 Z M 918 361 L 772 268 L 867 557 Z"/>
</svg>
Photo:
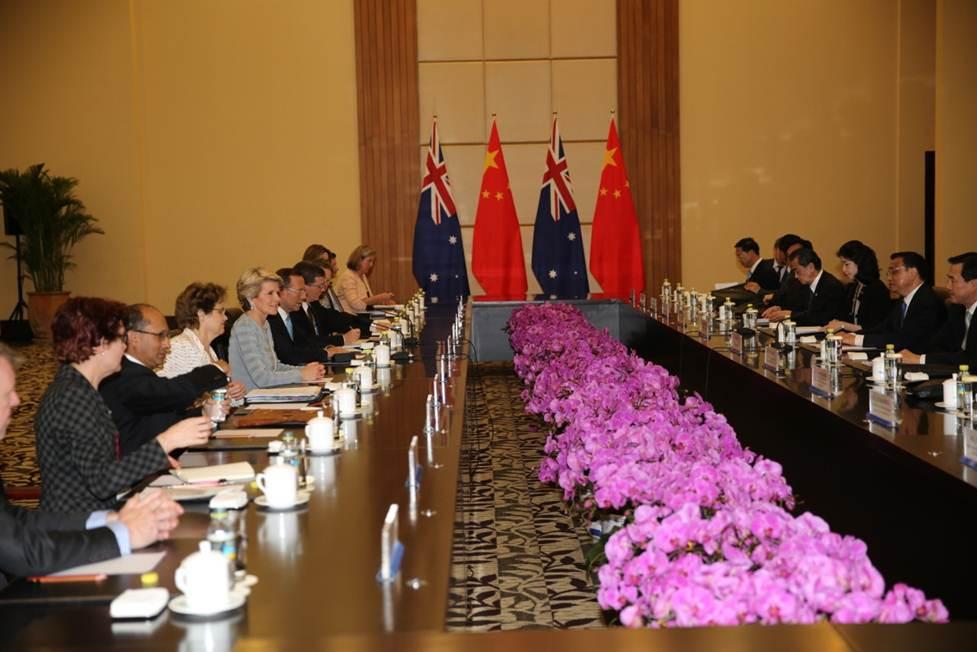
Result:
<svg viewBox="0 0 977 652">
<path fill-rule="evenodd" d="M 469 294 L 461 225 L 451 196 L 436 118 L 431 127 L 421 204 L 414 225 L 414 278 L 431 303 L 454 303 Z"/>
</svg>

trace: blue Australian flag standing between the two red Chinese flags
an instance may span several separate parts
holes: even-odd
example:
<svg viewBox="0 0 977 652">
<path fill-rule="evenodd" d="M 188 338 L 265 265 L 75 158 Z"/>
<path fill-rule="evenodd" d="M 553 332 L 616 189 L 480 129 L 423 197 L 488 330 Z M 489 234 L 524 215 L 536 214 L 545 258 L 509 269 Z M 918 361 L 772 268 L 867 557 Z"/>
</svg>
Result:
<svg viewBox="0 0 977 652">
<path fill-rule="evenodd" d="M 590 292 L 581 235 L 570 171 L 554 115 L 533 229 L 533 273 L 545 298 L 583 299 Z"/>
</svg>

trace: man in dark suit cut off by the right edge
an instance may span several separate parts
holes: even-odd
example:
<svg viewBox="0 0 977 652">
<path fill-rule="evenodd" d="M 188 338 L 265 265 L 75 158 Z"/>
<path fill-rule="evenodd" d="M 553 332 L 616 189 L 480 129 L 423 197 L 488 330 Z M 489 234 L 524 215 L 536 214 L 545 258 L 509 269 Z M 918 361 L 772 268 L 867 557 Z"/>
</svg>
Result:
<svg viewBox="0 0 977 652">
<path fill-rule="evenodd" d="M 970 373 L 977 373 L 977 252 L 953 256 L 948 261 L 946 275 L 950 302 L 947 320 L 936 335 L 926 343 L 925 354 L 902 351 L 903 361 L 909 364 L 970 365 Z"/>
</svg>

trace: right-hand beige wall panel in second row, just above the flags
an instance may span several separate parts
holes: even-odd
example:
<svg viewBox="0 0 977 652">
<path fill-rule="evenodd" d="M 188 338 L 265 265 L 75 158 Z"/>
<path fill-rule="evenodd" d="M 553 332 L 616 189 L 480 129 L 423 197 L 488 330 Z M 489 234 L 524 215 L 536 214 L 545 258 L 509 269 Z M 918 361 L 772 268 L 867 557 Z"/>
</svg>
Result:
<svg viewBox="0 0 977 652">
<path fill-rule="evenodd" d="M 564 139 L 607 138 L 610 112 L 617 109 L 617 60 L 553 62 L 553 110 Z"/>
</svg>

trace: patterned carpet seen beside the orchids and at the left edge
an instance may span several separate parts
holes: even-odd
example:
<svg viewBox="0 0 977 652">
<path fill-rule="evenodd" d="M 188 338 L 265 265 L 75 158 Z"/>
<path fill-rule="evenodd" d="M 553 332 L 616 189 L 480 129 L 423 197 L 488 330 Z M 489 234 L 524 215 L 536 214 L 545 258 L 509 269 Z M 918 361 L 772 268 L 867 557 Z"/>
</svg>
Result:
<svg viewBox="0 0 977 652">
<path fill-rule="evenodd" d="M 57 368 L 49 346 L 17 352 L 21 406 L 0 442 L 0 473 L 11 487 L 39 484 L 34 413 Z M 566 513 L 561 492 L 537 479 L 544 435 L 523 411 L 520 390 L 511 364 L 469 368 L 446 628 L 603 627 L 582 552 L 592 540 Z"/>
</svg>

